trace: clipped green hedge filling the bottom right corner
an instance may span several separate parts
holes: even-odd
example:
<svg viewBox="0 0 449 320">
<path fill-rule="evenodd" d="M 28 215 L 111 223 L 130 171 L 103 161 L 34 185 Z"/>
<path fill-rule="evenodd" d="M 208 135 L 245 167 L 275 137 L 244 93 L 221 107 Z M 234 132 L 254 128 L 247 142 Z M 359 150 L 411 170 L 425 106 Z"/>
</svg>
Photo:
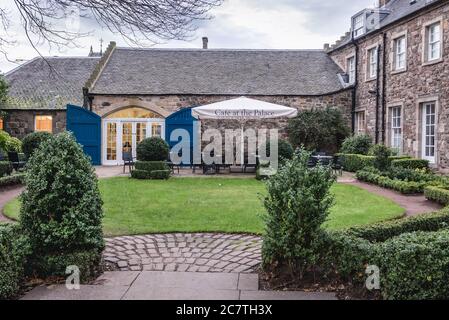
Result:
<svg viewBox="0 0 449 320">
<path fill-rule="evenodd" d="M 449 210 L 328 233 L 328 266 L 364 285 L 380 269 L 384 299 L 449 297 Z"/>
</svg>

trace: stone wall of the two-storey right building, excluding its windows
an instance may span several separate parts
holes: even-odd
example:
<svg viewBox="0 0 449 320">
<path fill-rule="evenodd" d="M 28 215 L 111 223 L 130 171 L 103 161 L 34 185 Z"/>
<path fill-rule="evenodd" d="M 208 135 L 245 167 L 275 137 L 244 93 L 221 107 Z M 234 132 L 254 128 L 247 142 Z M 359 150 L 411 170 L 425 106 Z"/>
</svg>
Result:
<svg viewBox="0 0 449 320">
<path fill-rule="evenodd" d="M 440 19 L 443 28 L 443 59 L 433 64 L 423 62 L 424 30 L 427 23 Z M 386 132 L 382 132 L 381 102 L 379 103 L 379 141 L 384 138 L 390 145 L 390 114 L 389 108 L 402 107 L 403 116 L 403 152 L 415 157 L 421 157 L 421 113 L 423 102 L 437 101 L 438 132 L 437 132 L 437 166 L 449 169 L 449 4 L 421 12 L 408 20 L 392 25 L 380 32 L 358 41 L 359 61 L 357 75 L 356 108 L 365 110 L 367 132 L 375 137 L 376 132 L 376 90 L 377 81 L 367 80 L 367 49 L 379 44 L 383 46 L 383 33 L 386 35 L 386 65 L 385 65 L 385 98 Z M 393 40 L 400 34 L 407 39 L 407 68 L 405 71 L 393 71 Z M 355 52 L 355 46 L 348 45 L 330 53 L 333 60 L 346 70 L 346 58 Z M 381 55 L 381 70 L 382 67 Z M 381 79 L 383 75 L 380 75 Z M 382 83 L 382 81 L 380 81 Z M 379 92 L 382 93 L 382 86 Z"/>
</svg>

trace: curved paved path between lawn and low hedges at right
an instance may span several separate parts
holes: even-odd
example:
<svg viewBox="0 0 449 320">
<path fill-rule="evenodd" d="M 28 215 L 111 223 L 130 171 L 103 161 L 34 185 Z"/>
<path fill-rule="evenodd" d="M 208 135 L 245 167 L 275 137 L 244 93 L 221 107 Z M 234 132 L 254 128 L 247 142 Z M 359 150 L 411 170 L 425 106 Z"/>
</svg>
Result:
<svg viewBox="0 0 449 320">
<path fill-rule="evenodd" d="M 403 195 L 393 190 L 384 189 L 376 185 L 360 182 L 357 180 L 346 181 L 343 183 L 351 184 L 363 188 L 371 193 L 391 199 L 405 209 L 407 216 L 416 216 L 418 214 L 430 213 L 443 208 L 443 206 L 429 201 L 423 195 Z"/>
</svg>

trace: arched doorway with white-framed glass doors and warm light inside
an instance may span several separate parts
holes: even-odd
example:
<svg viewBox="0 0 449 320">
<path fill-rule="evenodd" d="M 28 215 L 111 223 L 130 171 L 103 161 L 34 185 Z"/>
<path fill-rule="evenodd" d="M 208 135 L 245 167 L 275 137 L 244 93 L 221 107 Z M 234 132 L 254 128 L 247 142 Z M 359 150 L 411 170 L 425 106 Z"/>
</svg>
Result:
<svg viewBox="0 0 449 320">
<path fill-rule="evenodd" d="M 136 156 L 137 145 L 145 138 L 165 139 L 164 118 L 141 107 L 127 107 L 103 118 L 103 164 L 123 164 L 123 152 Z"/>
</svg>

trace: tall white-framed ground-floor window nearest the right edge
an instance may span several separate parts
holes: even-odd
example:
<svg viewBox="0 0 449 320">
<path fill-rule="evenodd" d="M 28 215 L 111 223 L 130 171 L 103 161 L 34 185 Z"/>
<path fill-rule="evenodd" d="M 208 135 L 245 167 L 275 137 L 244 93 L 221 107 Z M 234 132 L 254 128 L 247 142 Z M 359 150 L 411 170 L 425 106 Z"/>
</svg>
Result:
<svg viewBox="0 0 449 320">
<path fill-rule="evenodd" d="M 436 102 L 422 105 L 422 158 L 436 163 Z"/>
</svg>

